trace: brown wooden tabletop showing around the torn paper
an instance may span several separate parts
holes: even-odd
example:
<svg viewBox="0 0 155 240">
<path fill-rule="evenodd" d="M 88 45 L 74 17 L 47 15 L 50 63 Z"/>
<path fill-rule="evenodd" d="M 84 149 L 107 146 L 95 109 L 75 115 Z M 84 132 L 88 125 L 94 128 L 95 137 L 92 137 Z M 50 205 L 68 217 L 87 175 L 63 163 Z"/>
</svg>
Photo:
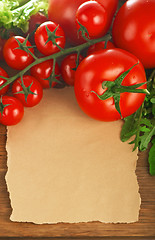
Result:
<svg viewBox="0 0 155 240">
<path fill-rule="evenodd" d="M 139 221 L 131 224 L 104 224 L 100 222 L 78 224 L 44 224 L 16 223 L 9 220 L 11 206 L 5 183 L 7 171 L 6 128 L 0 125 L 0 238 L 30 237 L 35 238 L 92 238 L 106 236 L 143 236 L 155 239 L 155 177 L 148 173 L 148 152 L 139 153 L 137 178 L 142 198 Z M 15 173 L 16 174 L 16 173 Z M 93 239 L 94 239 L 93 238 Z M 109 239 L 109 238 L 108 238 Z M 117 239 L 117 238 L 116 238 Z M 142 238 L 141 238 L 142 239 Z"/>
</svg>

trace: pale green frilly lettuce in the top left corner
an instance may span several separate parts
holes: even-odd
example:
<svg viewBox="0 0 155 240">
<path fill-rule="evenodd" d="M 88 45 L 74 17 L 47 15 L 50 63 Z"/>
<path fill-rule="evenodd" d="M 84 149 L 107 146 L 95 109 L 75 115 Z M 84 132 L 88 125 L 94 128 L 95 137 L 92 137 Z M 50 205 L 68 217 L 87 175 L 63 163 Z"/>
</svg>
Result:
<svg viewBox="0 0 155 240">
<path fill-rule="evenodd" d="M 31 15 L 48 10 L 48 0 L 1 0 L 0 1 L 0 28 L 19 28 L 28 31 L 28 20 Z"/>
</svg>

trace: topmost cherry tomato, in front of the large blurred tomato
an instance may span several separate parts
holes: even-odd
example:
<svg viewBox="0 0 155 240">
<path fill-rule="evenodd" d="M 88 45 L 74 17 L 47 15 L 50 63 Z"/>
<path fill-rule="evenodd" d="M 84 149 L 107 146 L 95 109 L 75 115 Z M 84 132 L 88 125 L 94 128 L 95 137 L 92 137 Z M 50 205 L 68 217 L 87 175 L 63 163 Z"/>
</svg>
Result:
<svg viewBox="0 0 155 240">
<path fill-rule="evenodd" d="M 88 34 L 85 33 L 87 38 L 88 35 L 89 38 L 99 38 L 106 33 L 107 13 L 105 8 L 97 1 L 82 3 L 76 11 L 76 21 L 77 29 L 80 29 L 80 24 L 87 29 Z M 79 34 L 82 34 L 81 31 Z"/>
</svg>

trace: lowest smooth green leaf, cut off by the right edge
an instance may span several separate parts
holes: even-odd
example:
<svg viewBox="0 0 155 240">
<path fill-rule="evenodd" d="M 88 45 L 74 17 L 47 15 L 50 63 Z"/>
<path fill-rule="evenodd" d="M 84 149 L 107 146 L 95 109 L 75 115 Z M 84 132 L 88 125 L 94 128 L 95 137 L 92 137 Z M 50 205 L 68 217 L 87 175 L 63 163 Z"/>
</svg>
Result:
<svg viewBox="0 0 155 240">
<path fill-rule="evenodd" d="M 149 172 L 152 176 L 155 176 L 155 137 L 152 140 L 152 147 L 149 151 Z"/>
</svg>

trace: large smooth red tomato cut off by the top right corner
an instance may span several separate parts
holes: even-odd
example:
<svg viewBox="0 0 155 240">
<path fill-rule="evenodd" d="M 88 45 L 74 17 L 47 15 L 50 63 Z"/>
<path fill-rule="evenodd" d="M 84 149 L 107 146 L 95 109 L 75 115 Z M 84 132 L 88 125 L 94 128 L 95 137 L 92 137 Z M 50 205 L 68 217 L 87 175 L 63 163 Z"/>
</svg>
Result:
<svg viewBox="0 0 155 240">
<path fill-rule="evenodd" d="M 130 0 L 114 20 L 114 44 L 137 56 L 145 68 L 155 67 L 155 1 Z"/>
</svg>

